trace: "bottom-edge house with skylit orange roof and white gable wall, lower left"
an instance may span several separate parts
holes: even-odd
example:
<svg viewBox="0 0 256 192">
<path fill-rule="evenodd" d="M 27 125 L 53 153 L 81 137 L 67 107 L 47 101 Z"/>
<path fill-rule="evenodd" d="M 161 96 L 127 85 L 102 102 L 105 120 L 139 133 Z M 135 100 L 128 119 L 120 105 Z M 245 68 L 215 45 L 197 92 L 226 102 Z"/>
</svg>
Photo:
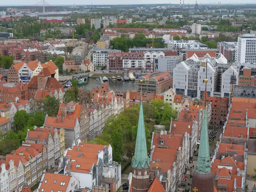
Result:
<svg viewBox="0 0 256 192">
<path fill-rule="evenodd" d="M 44 172 L 37 191 L 38 192 L 73 192 L 80 188 L 80 182 L 74 175 L 62 175 Z"/>
</svg>

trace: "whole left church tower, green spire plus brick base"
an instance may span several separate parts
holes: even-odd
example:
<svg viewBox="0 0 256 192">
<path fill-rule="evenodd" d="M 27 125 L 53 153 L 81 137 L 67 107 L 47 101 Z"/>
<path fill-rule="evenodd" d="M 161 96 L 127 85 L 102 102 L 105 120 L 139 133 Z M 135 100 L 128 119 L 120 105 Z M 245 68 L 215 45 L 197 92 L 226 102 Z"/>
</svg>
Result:
<svg viewBox="0 0 256 192">
<path fill-rule="evenodd" d="M 141 93 L 140 93 L 141 94 Z M 150 159 L 147 152 L 145 125 L 140 95 L 140 116 L 137 130 L 134 157 L 132 158 L 132 192 L 147 192 L 149 189 Z"/>
</svg>

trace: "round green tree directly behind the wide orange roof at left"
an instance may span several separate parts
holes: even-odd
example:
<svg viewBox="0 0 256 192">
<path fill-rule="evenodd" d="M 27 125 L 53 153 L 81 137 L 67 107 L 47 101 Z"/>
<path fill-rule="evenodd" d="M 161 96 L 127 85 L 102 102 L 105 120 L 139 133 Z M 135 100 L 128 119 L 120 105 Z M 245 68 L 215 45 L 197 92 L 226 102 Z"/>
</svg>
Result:
<svg viewBox="0 0 256 192">
<path fill-rule="evenodd" d="M 48 116 L 56 116 L 58 114 L 59 99 L 54 96 L 51 97 L 47 95 L 43 100 L 43 111 L 47 113 Z"/>
</svg>

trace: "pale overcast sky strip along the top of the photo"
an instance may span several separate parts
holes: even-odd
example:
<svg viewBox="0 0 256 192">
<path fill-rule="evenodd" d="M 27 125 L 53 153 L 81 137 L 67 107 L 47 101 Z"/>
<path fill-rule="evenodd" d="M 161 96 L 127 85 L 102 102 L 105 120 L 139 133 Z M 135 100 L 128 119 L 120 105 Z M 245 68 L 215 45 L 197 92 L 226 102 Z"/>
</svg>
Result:
<svg viewBox="0 0 256 192">
<path fill-rule="evenodd" d="M 8 1 L 8 0 L 0 0 L 0 6 L 5 6 L 5 5 L 34 5 L 35 3 L 40 2 L 41 0 L 12 0 L 12 1 Z M 183 1 L 183 0 L 182 0 Z M 155 1 L 155 0 L 129 0 L 129 1 L 120 1 L 120 0 L 46 0 L 47 3 L 49 3 L 50 5 L 73 5 L 73 3 L 75 3 L 75 5 L 91 5 L 91 3 L 95 4 L 95 5 L 102 5 L 102 4 L 108 4 L 108 5 L 113 5 L 113 4 L 121 4 L 121 3 L 129 3 L 129 4 L 154 4 L 154 3 L 177 3 L 179 4 L 180 1 L 177 0 L 177 2 L 175 1 L 171 1 L 171 0 L 162 0 L 162 1 Z M 214 1 L 209 1 L 209 0 L 198 0 L 198 3 L 214 3 Z M 255 0 L 223 0 L 221 1 L 221 3 L 256 3 Z M 184 3 L 187 4 L 194 4 L 195 0 L 189 0 L 186 1 L 184 0 Z M 215 4 L 218 4 L 218 0 L 215 1 Z"/>
</svg>

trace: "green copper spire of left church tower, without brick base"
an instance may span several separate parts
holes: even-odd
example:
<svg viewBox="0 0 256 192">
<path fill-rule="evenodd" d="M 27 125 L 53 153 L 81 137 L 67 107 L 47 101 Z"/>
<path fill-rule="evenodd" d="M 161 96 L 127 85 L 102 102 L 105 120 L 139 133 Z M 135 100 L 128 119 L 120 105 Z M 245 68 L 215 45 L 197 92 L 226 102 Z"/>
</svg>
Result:
<svg viewBox="0 0 256 192">
<path fill-rule="evenodd" d="M 146 169 L 150 167 L 150 160 L 148 158 L 146 136 L 145 136 L 145 124 L 143 115 L 143 106 L 140 99 L 140 116 L 137 130 L 137 138 L 135 145 L 134 157 L 132 158 L 131 166 L 139 169 Z"/>
</svg>

